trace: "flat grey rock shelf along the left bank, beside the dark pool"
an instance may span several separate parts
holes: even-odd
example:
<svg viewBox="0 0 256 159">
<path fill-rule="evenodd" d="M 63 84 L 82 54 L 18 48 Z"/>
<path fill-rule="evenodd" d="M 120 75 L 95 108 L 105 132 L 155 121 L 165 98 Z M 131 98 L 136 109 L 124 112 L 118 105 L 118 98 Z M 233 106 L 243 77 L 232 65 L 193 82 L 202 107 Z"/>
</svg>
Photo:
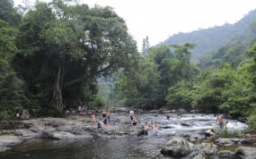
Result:
<svg viewBox="0 0 256 159">
<path fill-rule="evenodd" d="M 102 118 L 96 114 L 96 120 Z M 128 117 L 113 113 L 110 126 L 98 129 L 86 113 L 67 115 L 66 118 L 38 118 L 24 121 L 1 121 L 0 152 L 22 144 L 31 138 L 72 140 L 79 138 L 126 138 L 137 136 L 141 127 L 131 126 Z"/>
</svg>

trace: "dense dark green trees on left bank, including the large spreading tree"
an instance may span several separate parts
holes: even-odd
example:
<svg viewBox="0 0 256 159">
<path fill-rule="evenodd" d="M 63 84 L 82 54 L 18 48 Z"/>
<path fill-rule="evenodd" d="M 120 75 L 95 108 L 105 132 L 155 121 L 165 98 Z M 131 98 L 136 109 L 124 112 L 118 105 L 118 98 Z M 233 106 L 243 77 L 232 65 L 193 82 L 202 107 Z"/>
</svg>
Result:
<svg viewBox="0 0 256 159">
<path fill-rule="evenodd" d="M 1 7 L 10 8 L 8 2 Z M 108 6 L 37 2 L 16 29 L 7 24 L 10 12 L 18 14 L 1 15 L 0 119 L 22 108 L 42 116 L 84 104 L 102 107 L 96 79 L 136 64 L 136 41 Z"/>
</svg>

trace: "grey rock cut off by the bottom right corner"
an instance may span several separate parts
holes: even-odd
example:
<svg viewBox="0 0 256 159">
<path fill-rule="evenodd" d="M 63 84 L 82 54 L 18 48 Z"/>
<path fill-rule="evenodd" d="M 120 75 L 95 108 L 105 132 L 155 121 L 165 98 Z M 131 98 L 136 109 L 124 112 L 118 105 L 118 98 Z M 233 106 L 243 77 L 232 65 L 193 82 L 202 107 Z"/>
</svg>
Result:
<svg viewBox="0 0 256 159">
<path fill-rule="evenodd" d="M 237 155 L 242 159 L 255 159 L 256 148 L 248 147 L 248 146 L 240 146 L 235 150 L 234 155 Z"/>
</svg>

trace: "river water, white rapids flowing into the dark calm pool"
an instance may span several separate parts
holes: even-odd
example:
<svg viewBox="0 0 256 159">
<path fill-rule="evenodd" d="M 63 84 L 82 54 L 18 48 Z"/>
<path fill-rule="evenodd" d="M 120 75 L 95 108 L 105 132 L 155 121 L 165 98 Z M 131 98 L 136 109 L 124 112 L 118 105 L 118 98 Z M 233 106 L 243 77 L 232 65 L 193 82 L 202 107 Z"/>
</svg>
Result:
<svg viewBox="0 0 256 159">
<path fill-rule="evenodd" d="M 176 133 L 193 132 L 203 136 L 207 129 L 218 129 L 216 117 L 213 114 L 188 113 L 181 114 L 181 119 L 176 119 L 176 114 L 171 114 L 167 120 L 163 114 L 144 113 L 137 115 L 139 124 L 147 121 L 156 121 L 159 125 L 157 135 L 150 130 L 148 136 L 128 138 L 93 138 L 71 141 L 50 140 L 35 138 L 28 140 L 20 146 L 0 153 L 1 159 L 70 159 L 70 158 L 172 158 L 163 156 L 160 150 L 169 136 Z M 112 116 L 111 124 L 123 124 L 118 121 L 128 118 L 127 114 Z M 244 123 L 235 121 L 225 116 L 228 129 L 243 130 L 247 127 Z M 177 157 L 178 159 L 181 157 Z M 183 159 L 189 157 L 183 157 Z M 174 159 L 174 158 L 173 158 Z"/>
</svg>

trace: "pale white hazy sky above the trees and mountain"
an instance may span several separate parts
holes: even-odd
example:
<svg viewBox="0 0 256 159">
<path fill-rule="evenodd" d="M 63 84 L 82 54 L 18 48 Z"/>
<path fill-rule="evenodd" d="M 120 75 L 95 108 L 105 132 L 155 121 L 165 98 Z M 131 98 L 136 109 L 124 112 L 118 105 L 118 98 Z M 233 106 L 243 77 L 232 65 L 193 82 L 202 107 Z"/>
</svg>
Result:
<svg viewBox="0 0 256 159">
<path fill-rule="evenodd" d="M 13 0 L 22 4 L 22 0 Z M 33 1 L 33 0 L 31 0 Z M 43 0 L 48 1 L 49 0 Z M 178 32 L 234 23 L 256 9 L 255 0 L 80 0 L 84 4 L 109 5 L 128 25 L 141 51 L 148 36 L 154 46 Z"/>
</svg>

